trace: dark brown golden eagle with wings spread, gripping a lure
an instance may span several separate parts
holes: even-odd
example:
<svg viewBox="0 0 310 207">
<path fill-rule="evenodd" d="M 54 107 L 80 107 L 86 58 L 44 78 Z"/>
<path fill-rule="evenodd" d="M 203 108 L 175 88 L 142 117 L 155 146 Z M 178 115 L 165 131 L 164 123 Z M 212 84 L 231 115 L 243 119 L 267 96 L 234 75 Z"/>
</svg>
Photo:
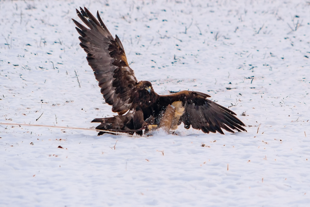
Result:
<svg viewBox="0 0 310 207">
<path fill-rule="evenodd" d="M 160 125 L 166 109 L 175 104 L 182 108 L 182 112 L 176 115 L 176 123 L 180 125 L 183 122 L 186 129 L 192 126 L 204 133 L 221 134 L 224 134 L 221 128 L 232 133 L 233 130 L 246 131 L 242 128 L 245 125 L 234 116 L 234 112 L 210 101 L 207 94 L 181 91 L 162 96 L 154 92 L 149 81 L 138 82 L 128 65 L 120 39 L 117 35 L 113 38 L 99 12 L 97 11 L 97 20 L 85 7 L 84 10 L 80 7 L 80 11 L 76 11 L 88 27 L 72 19 L 81 35 L 80 46 L 87 53 L 86 59 L 99 81 L 105 102 L 112 106 L 113 112 L 118 113 L 117 116 L 94 119 L 92 122 L 101 123 L 96 129 L 136 132 L 142 135 L 142 129 L 148 131 L 151 124 Z M 98 135 L 100 134 L 103 133 Z"/>
</svg>

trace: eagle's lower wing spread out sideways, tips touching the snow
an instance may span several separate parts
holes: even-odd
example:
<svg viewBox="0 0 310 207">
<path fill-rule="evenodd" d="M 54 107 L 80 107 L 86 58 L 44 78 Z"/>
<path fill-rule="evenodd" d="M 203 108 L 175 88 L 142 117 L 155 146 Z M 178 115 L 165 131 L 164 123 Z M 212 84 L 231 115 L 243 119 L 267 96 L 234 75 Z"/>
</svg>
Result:
<svg viewBox="0 0 310 207">
<path fill-rule="evenodd" d="M 181 91 L 170 95 L 159 96 L 157 104 L 164 108 L 174 101 L 182 101 L 185 108 L 184 114 L 180 117 L 179 123 L 184 123 L 185 128 L 192 127 L 201 129 L 204 133 L 219 132 L 224 134 L 221 128 L 228 132 L 237 130 L 246 131 L 245 126 L 231 110 L 207 99 L 207 94 L 195 91 Z"/>
</svg>

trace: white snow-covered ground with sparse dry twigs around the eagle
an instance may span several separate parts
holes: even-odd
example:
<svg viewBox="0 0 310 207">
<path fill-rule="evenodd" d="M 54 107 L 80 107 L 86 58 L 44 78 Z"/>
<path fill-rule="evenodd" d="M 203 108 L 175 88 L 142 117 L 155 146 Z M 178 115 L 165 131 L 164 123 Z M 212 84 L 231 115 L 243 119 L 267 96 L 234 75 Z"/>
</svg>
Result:
<svg viewBox="0 0 310 207">
<path fill-rule="evenodd" d="M 309 206 L 309 1 L 0 1 L 0 122 L 114 114 L 78 45 L 80 6 L 99 10 L 138 80 L 205 92 L 248 132 L 2 124 L 0 206 Z"/>
</svg>

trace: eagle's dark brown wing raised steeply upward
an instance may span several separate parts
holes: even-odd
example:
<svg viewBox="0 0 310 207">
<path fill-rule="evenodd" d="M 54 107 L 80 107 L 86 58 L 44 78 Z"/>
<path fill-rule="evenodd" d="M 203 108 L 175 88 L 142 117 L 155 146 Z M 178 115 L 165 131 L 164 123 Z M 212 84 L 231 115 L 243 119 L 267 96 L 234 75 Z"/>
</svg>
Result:
<svg viewBox="0 0 310 207">
<path fill-rule="evenodd" d="M 119 115 L 126 113 L 131 106 L 131 92 L 137 84 L 134 71 L 127 63 L 121 41 L 114 39 L 97 11 L 96 18 L 84 7 L 77 11 L 78 17 L 89 27 L 87 29 L 76 20 L 76 27 L 81 43 L 87 53 L 88 64 L 99 81 L 105 102 L 112 105 L 112 111 Z"/>
</svg>

